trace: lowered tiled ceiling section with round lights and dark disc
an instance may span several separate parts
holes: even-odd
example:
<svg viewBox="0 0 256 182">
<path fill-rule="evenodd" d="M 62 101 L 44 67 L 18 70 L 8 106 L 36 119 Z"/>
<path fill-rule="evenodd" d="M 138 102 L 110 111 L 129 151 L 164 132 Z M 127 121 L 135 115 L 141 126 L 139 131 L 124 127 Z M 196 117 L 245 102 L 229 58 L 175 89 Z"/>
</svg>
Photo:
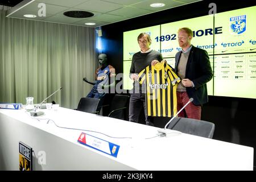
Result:
<svg viewBox="0 0 256 182">
<path fill-rule="evenodd" d="M 85 27 L 99 27 L 197 1 L 201 0 L 23 0 L 12 7 L 7 16 Z M 166 6 L 160 8 L 150 7 L 151 3 L 159 2 L 166 4 Z M 46 17 L 25 18 L 23 16 L 24 14 L 38 15 L 39 3 L 46 4 Z M 89 18 L 71 18 L 63 15 L 65 11 L 82 10 L 89 11 L 94 15 Z M 87 22 L 96 23 L 96 25 L 87 26 L 85 25 Z"/>
</svg>

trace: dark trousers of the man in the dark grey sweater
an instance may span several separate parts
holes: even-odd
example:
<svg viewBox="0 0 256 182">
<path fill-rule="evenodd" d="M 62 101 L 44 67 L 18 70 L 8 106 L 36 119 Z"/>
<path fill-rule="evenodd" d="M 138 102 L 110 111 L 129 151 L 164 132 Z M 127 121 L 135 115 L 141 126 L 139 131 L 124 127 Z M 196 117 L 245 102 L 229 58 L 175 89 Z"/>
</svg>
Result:
<svg viewBox="0 0 256 182">
<path fill-rule="evenodd" d="M 150 117 L 147 116 L 146 113 L 146 105 L 145 105 L 145 94 L 144 93 L 131 93 L 130 104 L 129 104 L 129 121 L 131 122 L 139 122 L 139 114 L 141 113 L 141 109 L 144 109 L 145 114 L 145 122 L 146 125 L 154 126 L 154 124 L 150 121 Z"/>
</svg>

